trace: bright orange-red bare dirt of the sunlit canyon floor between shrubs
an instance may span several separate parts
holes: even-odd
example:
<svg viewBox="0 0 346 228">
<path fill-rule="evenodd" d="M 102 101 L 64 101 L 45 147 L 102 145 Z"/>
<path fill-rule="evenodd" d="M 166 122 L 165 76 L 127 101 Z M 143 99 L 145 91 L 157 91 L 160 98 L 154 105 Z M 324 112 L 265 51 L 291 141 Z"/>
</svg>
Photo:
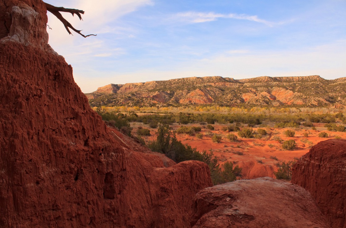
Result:
<svg viewBox="0 0 346 228">
<path fill-rule="evenodd" d="M 302 155 L 309 152 L 310 148 L 317 143 L 333 139 L 337 136 L 342 139 L 346 139 L 346 132 L 333 132 L 328 131 L 324 127 L 324 123 L 315 123 L 316 130 L 312 130 L 311 127 L 300 126 L 299 128 L 274 128 L 274 123 L 267 123 L 268 127 L 253 127 L 256 132 L 257 129 L 265 129 L 268 134 L 263 136 L 262 139 L 246 139 L 238 136 L 237 132 L 222 131 L 223 126 L 226 124 L 213 124 L 215 130 L 209 130 L 206 125 L 201 124 L 177 124 L 170 125 L 173 130 L 178 129 L 181 126 L 199 126 L 203 134 L 202 139 L 197 138 L 194 135 L 188 134 L 176 134 L 178 140 L 182 143 L 191 145 L 193 148 L 197 148 L 198 151 L 203 150 L 213 151 L 214 155 L 218 157 L 220 164 L 227 161 L 238 164 L 243 168 L 242 179 L 254 179 L 259 177 L 272 177 L 274 178 L 274 171 L 277 171 L 277 163 L 282 161 L 292 161 L 299 159 Z M 150 130 L 150 136 L 141 136 L 145 142 L 156 140 L 157 129 L 152 129 L 148 125 L 138 122 L 132 122 L 133 133 L 136 135 L 138 127 L 144 127 Z M 284 134 L 286 130 L 294 130 L 294 137 L 287 137 Z M 308 133 L 308 137 L 304 136 L 304 133 Z M 326 132 L 328 137 L 319 137 L 320 132 Z M 212 142 L 211 136 L 218 134 L 222 136 L 219 143 Z M 235 134 L 238 136 L 238 142 L 230 142 L 227 139 L 228 134 Z M 282 149 L 282 142 L 279 142 L 278 137 L 282 140 L 293 139 L 296 143 L 296 149 L 284 150 Z"/>
</svg>

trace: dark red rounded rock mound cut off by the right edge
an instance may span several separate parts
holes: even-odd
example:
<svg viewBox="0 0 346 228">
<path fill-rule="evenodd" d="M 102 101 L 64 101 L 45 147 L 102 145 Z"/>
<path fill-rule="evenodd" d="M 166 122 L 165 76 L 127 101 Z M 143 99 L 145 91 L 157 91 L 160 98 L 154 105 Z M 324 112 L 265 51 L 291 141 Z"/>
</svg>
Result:
<svg viewBox="0 0 346 228">
<path fill-rule="evenodd" d="M 346 227 L 346 140 L 313 146 L 294 165 L 292 183 L 311 193 L 332 227 Z"/>
</svg>

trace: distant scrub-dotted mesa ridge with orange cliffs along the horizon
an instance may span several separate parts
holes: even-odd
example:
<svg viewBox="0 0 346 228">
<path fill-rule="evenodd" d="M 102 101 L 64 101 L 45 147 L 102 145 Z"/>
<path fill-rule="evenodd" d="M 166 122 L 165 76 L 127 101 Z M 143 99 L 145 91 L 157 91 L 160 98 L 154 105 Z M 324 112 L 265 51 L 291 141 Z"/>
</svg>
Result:
<svg viewBox="0 0 346 228">
<path fill-rule="evenodd" d="M 85 94 L 91 106 L 336 106 L 346 104 L 346 78 L 318 75 L 247 79 L 189 77 L 109 84 Z"/>
</svg>

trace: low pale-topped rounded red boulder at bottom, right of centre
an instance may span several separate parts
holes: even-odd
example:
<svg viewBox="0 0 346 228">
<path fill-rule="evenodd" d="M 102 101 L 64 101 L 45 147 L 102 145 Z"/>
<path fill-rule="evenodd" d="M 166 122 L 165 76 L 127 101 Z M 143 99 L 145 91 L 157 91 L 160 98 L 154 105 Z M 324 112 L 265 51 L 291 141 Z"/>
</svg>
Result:
<svg viewBox="0 0 346 228">
<path fill-rule="evenodd" d="M 329 227 L 310 193 L 269 177 L 240 180 L 197 193 L 193 228 Z"/>
</svg>

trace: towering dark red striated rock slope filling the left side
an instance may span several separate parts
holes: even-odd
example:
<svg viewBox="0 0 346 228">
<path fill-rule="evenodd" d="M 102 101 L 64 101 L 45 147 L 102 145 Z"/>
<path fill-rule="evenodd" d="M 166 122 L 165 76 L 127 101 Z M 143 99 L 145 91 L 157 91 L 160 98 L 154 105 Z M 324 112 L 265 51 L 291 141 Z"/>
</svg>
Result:
<svg viewBox="0 0 346 228">
<path fill-rule="evenodd" d="M 166 167 L 107 127 L 47 44 L 42 1 L 0 12 L 0 227 L 189 227 L 207 165 Z"/>
</svg>

